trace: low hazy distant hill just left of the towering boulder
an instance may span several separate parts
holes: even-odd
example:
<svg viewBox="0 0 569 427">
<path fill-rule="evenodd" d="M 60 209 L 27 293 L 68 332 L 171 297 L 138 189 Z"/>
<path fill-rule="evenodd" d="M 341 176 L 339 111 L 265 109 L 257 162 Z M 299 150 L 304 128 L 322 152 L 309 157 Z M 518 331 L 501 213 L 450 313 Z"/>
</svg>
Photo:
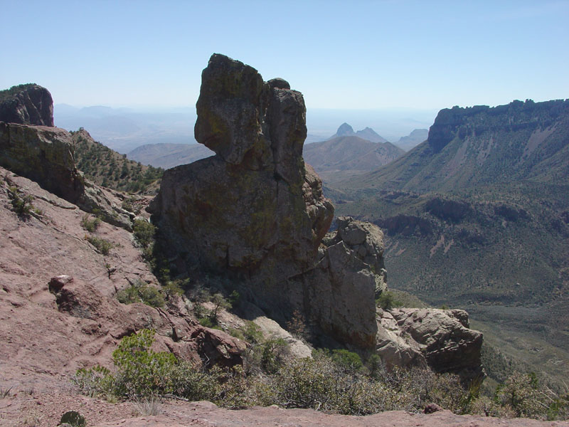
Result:
<svg viewBox="0 0 569 427">
<path fill-rule="evenodd" d="M 146 144 L 133 149 L 127 157 L 135 162 L 169 169 L 212 155 L 211 149 L 203 144 Z"/>
</svg>

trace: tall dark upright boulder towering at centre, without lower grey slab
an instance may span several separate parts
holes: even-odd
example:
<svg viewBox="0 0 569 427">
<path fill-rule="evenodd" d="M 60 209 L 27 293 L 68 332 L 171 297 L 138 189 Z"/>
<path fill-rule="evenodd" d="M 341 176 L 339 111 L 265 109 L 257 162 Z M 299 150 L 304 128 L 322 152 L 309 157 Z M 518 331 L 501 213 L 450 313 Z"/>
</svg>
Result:
<svg viewBox="0 0 569 427">
<path fill-rule="evenodd" d="M 289 278 L 314 266 L 334 214 L 302 159 L 302 94 L 215 54 L 196 107 L 196 139 L 216 156 L 167 170 L 150 210 L 201 268 L 246 279 L 263 308 L 286 317 Z"/>
</svg>

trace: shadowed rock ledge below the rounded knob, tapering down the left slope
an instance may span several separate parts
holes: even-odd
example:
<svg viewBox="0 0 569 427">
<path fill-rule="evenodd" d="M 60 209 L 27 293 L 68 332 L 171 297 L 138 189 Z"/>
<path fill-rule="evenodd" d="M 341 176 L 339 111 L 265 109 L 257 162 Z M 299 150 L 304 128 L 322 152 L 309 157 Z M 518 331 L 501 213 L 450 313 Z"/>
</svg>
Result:
<svg viewBox="0 0 569 427">
<path fill-rule="evenodd" d="M 0 122 L 0 166 L 87 212 L 96 211 L 109 223 L 131 227 L 129 213 L 112 191 L 87 181 L 75 168 L 73 141 L 66 130 Z"/>
</svg>

